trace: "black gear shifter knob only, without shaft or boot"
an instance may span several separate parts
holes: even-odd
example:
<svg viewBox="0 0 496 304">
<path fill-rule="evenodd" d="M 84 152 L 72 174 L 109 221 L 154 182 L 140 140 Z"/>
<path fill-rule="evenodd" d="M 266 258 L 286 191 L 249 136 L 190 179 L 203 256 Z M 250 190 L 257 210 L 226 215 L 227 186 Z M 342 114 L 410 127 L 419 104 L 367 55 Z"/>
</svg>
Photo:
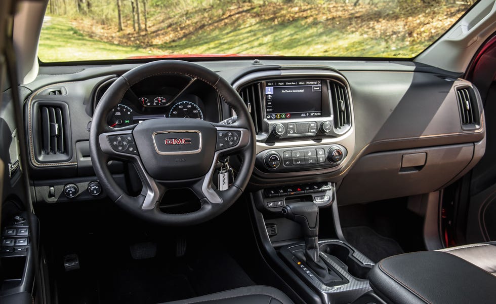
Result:
<svg viewBox="0 0 496 304">
<path fill-rule="evenodd" d="M 313 202 L 297 202 L 282 207 L 282 214 L 300 224 L 305 238 L 319 234 L 319 208 Z"/>
</svg>

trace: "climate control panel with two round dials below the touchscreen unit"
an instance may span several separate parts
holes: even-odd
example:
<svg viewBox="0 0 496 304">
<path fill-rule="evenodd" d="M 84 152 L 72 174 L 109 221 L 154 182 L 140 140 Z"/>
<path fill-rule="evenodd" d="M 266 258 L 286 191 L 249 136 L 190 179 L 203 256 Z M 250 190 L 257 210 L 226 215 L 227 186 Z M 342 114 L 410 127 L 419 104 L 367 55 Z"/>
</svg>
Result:
<svg viewBox="0 0 496 304">
<path fill-rule="evenodd" d="M 257 167 L 266 172 L 291 172 L 336 167 L 347 156 L 339 144 L 266 150 L 257 155 Z"/>
</svg>

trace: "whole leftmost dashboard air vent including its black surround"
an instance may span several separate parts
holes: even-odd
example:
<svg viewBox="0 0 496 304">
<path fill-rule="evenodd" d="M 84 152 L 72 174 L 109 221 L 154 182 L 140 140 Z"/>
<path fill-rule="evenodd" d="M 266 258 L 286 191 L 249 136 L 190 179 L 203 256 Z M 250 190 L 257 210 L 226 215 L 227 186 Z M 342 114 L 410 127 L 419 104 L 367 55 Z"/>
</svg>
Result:
<svg viewBox="0 0 496 304">
<path fill-rule="evenodd" d="M 63 101 L 39 100 L 31 105 L 29 143 L 33 165 L 65 165 L 72 158 L 69 106 Z"/>
</svg>

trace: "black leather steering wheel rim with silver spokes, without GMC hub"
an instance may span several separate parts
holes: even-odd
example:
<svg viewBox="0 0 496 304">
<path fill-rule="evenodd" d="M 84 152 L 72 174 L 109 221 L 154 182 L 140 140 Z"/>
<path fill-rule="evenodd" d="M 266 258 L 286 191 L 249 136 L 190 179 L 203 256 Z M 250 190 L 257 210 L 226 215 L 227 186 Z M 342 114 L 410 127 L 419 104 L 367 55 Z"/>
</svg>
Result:
<svg viewBox="0 0 496 304">
<path fill-rule="evenodd" d="M 209 123 L 217 129 L 217 132 L 219 132 L 219 130 L 225 132 L 235 130 L 238 132 L 237 134 L 241 134 L 239 144 L 225 152 L 227 155 L 236 153 L 240 155 L 242 159 L 237 176 L 226 191 L 219 191 L 211 187 L 213 178 L 212 168 L 215 167 L 218 157 L 224 155 L 222 150 L 218 152 L 216 150 L 211 170 L 207 173 L 210 174 L 210 176 L 204 175 L 201 178 L 192 178 L 181 181 L 158 181 L 148 174 L 140 156 L 128 157 L 122 153 L 115 153 L 109 148 L 109 136 L 115 134 L 133 134 L 136 132 L 135 128 L 138 128 L 141 124 L 118 129 L 110 128 L 107 125 L 106 119 L 108 112 L 121 102 L 122 97 L 130 87 L 149 77 L 160 75 L 187 76 L 191 79 L 196 79 L 196 81 L 202 81 L 214 88 L 219 94 L 220 99 L 223 102 L 226 102 L 236 113 L 237 121 L 232 125 Z M 190 121 L 189 119 L 166 118 L 156 120 L 156 124 L 166 124 L 167 120 L 184 120 L 180 121 L 184 124 L 187 124 L 187 121 Z M 191 123 L 193 123 L 192 121 L 195 120 L 191 120 Z M 210 128 L 209 126 L 206 126 L 205 122 L 201 123 L 202 126 Z M 244 188 L 249 182 L 255 165 L 255 142 L 255 128 L 250 113 L 234 88 L 214 71 L 195 63 L 180 60 L 160 60 L 146 63 L 131 69 L 117 78 L 98 102 L 93 114 L 90 130 L 90 154 L 93 168 L 102 188 L 109 198 L 126 211 L 144 220 L 175 226 L 198 224 L 209 220 L 225 211 L 241 196 Z M 205 144 L 212 145 L 216 143 L 206 142 Z M 139 149 L 140 147 L 138 146 L 138 150 Z M 128 160 L 135 166 L 143 183 L 143 191 L 139 196 L 129 196 L 112 178 L 112 174 L 108 169 L 108 161 L 112 159 Z M 160 211 L 159 202 L 162 199 L 164 189 L 166 189 L 161 186 L 163 184 L 167 185 L 167 188 L 190 188 L 200 200 L 200 209 L 185 214 L 170 214 Z M 157 192 L 160 194 L 157 195 Z"/>
</svg>

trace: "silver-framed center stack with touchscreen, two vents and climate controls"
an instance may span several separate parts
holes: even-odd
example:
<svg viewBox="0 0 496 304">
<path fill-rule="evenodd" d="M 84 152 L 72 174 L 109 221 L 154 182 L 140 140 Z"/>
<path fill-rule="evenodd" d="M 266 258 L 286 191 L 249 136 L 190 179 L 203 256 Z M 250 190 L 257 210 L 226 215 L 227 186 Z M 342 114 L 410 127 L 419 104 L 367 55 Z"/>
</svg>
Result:
<svg viewBox="0 0 496 304">
<path fill-rule="evenodd" d="M 354 150 L 353 106 L 341 74 L 263 71 L 234 87 L 256 125 L 260 172 L 334 172 L 349 161 Z"/>
</svg>

